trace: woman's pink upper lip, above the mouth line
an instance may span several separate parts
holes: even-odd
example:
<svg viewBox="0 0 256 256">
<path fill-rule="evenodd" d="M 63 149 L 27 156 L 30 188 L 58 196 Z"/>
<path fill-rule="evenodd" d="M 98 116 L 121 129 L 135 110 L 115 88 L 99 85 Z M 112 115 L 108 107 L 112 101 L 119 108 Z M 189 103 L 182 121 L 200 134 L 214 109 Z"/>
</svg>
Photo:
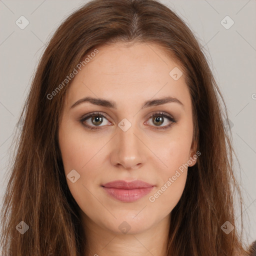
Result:
<svg viewBox="0 0 256 256">
<path fill-rule="evenodd" d="M 112 187 L 112 188 L 119 188 L 119 189 L 134 189 L 134 188 L 145 188 L 154 186 L 142 180 L 134 180 L 127 182 L 125 180 L 114 180 L 108 183 L 103 184 L 104 187 Z"/>
</svg>

